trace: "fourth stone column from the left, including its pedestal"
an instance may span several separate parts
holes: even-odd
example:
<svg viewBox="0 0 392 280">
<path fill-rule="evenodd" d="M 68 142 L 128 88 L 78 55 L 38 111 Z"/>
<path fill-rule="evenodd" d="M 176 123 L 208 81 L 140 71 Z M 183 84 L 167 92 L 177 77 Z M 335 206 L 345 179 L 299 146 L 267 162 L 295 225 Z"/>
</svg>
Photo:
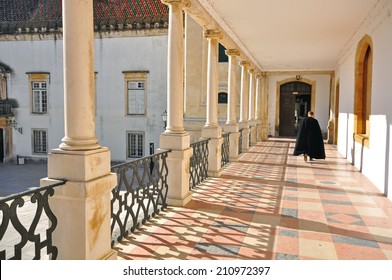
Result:
<svg viewBox="0 0 392 280">
<path fill-rule="evenodd" d="M 228 94 L 229 100 L 227 103 L 227 121 L 223 127 L 225 132 L 229 132 L 229 160 L 238 160 L 238 144 L 239 144 L 239 129 L 237 123 L 237 56 L 240 52 L 236 49 L 226 50 L 226 55 L 229 57 L 229 74 L 228 74 Z"/>
</svg>

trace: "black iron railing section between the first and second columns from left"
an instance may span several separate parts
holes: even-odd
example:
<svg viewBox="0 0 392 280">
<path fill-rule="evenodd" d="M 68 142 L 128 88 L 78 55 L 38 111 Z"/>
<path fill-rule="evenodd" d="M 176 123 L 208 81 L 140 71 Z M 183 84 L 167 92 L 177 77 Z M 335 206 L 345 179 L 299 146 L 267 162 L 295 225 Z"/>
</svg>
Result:
<svg viewBox="0 0 392 280">
<path fill-rule="evenodd" d="M 169 152 L 112 167 L 112 172 L 117 174 L 111 199 L 112 245 L 167 207 Z"/>
</svg>

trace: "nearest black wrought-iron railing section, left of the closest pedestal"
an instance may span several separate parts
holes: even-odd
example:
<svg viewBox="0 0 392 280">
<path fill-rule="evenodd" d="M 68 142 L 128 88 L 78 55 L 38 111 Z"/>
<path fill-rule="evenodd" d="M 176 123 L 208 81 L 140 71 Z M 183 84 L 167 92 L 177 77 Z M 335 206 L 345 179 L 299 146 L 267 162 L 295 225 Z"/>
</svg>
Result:
<svg viewBox="0 0 392 280">
<path fill-rule="evenodd" d="M 54 188 L 64 183 L 61 181 L 0 199 L 0 259 L 57 258 L 58 249 L 52 243 L 57 218 L 50 208 L 49 198 L 54 195 Z"/>
</svg>

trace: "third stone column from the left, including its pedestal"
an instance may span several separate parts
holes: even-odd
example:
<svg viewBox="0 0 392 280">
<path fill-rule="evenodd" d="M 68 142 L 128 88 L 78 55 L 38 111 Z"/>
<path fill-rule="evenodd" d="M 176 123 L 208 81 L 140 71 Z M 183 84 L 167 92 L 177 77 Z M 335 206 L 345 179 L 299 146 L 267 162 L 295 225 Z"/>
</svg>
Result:
<svg viewBox="0 0 392 280">
<path fill-rule="evenodd" d="M 208 176 L 219 177 L 222 173 L 222 128 L 218 123 L 218 39 L 222 33 L 218 30 L 206 30 L 208 40 L 207 64 L 207 120 L 201 135 L 210 138 L 208 142 Z"/>
</svg>

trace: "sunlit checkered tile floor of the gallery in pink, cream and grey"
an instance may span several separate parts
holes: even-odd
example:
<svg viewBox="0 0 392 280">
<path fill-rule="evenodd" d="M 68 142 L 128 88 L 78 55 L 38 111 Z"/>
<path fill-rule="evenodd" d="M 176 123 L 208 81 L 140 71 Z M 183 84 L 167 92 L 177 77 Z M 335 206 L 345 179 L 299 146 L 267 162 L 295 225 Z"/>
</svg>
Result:
<svg viewBox="0 0 392 280">
<path fill-rule="evenodd" d="M 392 202 L 334 147 L 311 162 L 293 147 L 251 147 L 117 244 L 118 259 L 392 259 Z"/>
</svg>

